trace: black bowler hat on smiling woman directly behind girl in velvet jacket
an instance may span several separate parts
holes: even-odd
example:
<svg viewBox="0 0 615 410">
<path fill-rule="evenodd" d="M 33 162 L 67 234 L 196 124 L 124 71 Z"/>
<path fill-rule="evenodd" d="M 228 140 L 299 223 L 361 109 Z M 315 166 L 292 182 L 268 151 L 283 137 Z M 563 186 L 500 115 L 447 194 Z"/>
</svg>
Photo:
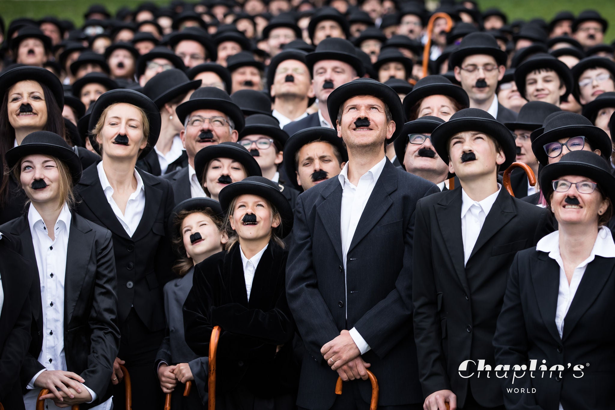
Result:
<svg viewBox="0 0 615 410">
<path fill-rule="evenodd" d="M 210 160 L 216 158 L 230 158 L 236 160 L 244 165 L 245 172 L 248 176 L 262 175 L 261 167 L 258 165 L 258 162 L 256 162 L 252 154 L 250 154 L 250 151 L 245 149 L 241 144 L 231 142 L 220 143 L 206 146 L 194 156 L 194 172 L 201 186 L 203 186 L 203 178 L 205 176 L 207 164 Z"/>
</svg>

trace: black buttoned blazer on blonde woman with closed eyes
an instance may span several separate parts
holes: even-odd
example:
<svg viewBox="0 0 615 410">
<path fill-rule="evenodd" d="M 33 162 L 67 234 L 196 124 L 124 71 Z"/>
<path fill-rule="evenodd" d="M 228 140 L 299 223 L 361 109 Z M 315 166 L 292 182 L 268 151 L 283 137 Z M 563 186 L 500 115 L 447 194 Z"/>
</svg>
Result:
<svg viewBox="0 0 615 410">
<path fill-rule="evenodd" d="M 113 234 L 119 323 L 124 322 L 134 306 L 148 329 L 158 331 L 165 328 L 162 286 L 173 278 L 171 245 L 169 235 L 165 234 L 174 204 L 173 189 L 169 181 L 138 168 L 137 171 L 145 187 L 145 210 L 132 237 L 107 202 L 96 165 L 83 171 L 75 187 L 79 199 L 77 212 Z"/>
</svg>

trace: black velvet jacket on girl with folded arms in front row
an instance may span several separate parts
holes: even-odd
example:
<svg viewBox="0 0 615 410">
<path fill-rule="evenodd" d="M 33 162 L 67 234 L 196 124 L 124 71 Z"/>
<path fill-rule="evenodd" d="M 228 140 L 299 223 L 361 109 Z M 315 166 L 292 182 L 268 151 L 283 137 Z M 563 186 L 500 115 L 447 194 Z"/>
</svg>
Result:
<svg viewBox="0 0 615 410">
<path fill-rule="evenodd" d="M 183 308 L 186 343 L 197 355 L 207 356 L 213 326 L 223 329 L 216 357 L 217 393 L 232 394 L 239 385 L 264 398 L 296 391 L 295 323 L 285 293 L 287 256 L 269 242 L 256 267 L 250 302 L 239 243 L 194 267 Z M 283 346 L 276 353 L 277 345 Z"/>
</svg>

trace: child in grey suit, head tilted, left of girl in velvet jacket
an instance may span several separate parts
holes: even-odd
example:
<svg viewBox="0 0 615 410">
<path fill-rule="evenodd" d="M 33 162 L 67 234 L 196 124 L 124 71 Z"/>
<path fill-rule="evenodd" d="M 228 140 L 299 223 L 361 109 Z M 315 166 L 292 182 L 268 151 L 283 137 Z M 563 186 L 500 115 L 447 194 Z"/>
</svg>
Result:
<svg viewBox="0 0 615 410">
<path fill-rule="evenodd" d="M 173 265 L 177 277 L 164 285 L 164 310 L 168 336 L 156 356 L 158 379 L 163 393 L 172 393 L 172 409 L 204 409 L 207 403 L 207 357 L 199 357 L 188 347 L 184 336 L 182 308 L 192 289 L 194 266 L 223 250 L 228 235 L 223 229 L 220 203 L 209 198 L 191 198 L 179 203 L 169 218 L 173 249 L 178 256 Z M 188 397 L 178 384 L 196 383 L 197 393 Z"/>
</svg>

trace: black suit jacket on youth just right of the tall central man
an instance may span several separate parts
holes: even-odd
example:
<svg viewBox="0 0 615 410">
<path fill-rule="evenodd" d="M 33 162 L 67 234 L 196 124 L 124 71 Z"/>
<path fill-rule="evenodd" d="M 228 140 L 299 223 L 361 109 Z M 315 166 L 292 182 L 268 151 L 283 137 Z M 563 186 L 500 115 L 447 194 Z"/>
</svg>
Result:
<svg viewBox="0 0 615 410">
<path fill-rule="evenodd" d="M 423 395 L 452 390 L 459 407 L 468 388 L 478 404 L 502 405 L 500 380 L 464 379 L 464 360 L 494 367 L 491 341 L 506 278 L 517 251 L 551 231 L 549 212 L 513 198 L 502 187 L 464 267 L 461 186 L 417 205 L 412 301 Z"/>
</svg>

